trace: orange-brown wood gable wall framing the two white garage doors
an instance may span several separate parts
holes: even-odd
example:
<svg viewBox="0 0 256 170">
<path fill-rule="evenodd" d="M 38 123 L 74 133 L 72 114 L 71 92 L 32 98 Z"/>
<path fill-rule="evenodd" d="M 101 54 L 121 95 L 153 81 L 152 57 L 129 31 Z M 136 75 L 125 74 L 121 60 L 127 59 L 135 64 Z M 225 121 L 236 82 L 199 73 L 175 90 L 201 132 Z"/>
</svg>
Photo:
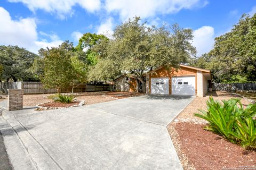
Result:
<svg viewBox="0 0 256 170">
<path fill-rule="evenodd" d="M 169 94 L 172 94 L 172 77 L 173 76 L 188 76 L 188 75 L 195 75 L 197 77 L 196 70 L 188 69 L 185 67 L 180 67 L 178 71 L 175 69 L 166 69 L 162 67 L 161 69 L 156 70 L 154 73 L 149 74 L 149 88 L 148 91 L 151 93 L 151 78 L 161 78 L 161 77 L 169 77 Z M 196 78 L 196 93 L 197 93 L 197 78 Z"/>
</svg>

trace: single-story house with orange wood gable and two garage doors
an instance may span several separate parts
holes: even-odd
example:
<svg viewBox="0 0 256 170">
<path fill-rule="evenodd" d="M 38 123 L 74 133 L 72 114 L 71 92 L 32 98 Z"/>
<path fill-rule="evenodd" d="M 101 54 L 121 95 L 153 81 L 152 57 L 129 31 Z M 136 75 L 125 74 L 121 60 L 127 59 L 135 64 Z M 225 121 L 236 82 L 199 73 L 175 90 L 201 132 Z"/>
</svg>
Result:
<svg viewBox="0 0 256 170">
<path fill-rule="evenodd" d="M 203 97 L 211 83 L 210 70 L 180 65 L 178 70 L 161 67 L 148 72 L 146 94 L 196 95 Z M 125 75 L 114 80 L 116 91 L 135 91 L 136 81 Z M 134 88 L 135 87 L 135 88 Z"/>
</svg>

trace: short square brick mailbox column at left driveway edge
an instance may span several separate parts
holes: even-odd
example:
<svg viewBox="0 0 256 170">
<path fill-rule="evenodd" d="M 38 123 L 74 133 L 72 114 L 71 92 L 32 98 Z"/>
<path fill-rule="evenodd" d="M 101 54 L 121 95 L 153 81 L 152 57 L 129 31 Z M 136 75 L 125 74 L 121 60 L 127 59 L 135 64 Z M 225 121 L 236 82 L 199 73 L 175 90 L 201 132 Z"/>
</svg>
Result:
<svg viewBox="0 0 256 170">
<path fill-rule="evenodd" d="M 23 108 L 23 89 L 8 89 L 8 111 L 17 111 Z"/>
</svg>

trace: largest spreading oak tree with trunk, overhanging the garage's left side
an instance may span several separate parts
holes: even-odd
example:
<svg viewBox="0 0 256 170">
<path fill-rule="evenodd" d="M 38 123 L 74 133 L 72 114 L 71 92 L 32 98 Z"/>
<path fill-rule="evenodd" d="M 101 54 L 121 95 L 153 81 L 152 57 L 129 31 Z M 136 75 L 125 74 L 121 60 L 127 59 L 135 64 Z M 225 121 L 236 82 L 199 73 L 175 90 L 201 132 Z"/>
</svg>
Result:
<svg viewBox="0 0 256 170">
<path fill-rule="evenodd" d="M 182 29 L 178 24 L 156 28 L 147 27 L 139 17 L 129 19 L 115 28 L 113 37 L 93 47 L 99 62 L 92 67 L 94 77 L 90 78 L 113 80 L 125 73 L 134 77 L 137 84 L 142 84 L 141 90 L 145 90 L 145 72 L 160 66 L 178 68 L 196 54 L 190 43 L 192 39 L 192 30 Z"/>
</svg>

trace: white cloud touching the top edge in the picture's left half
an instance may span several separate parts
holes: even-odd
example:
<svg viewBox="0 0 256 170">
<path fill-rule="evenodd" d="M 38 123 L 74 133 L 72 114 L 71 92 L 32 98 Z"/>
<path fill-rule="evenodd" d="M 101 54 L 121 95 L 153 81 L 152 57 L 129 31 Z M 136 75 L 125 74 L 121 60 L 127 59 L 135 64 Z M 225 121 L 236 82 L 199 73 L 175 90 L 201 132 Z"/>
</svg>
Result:
<svg viewBox="0 0 256 170">
<path fill-rule="evenodd" d="M 36 12 L 41 9 L 46 12 L 56 13 L 60 19 L 65 19 L 67 15 L 72 15 L 73 6 L 79 5 L 89 12 L 100 9 L 100 0 L 8 0 L 9 2 L 25 4 L 30 11 Z"/>
</svg>

